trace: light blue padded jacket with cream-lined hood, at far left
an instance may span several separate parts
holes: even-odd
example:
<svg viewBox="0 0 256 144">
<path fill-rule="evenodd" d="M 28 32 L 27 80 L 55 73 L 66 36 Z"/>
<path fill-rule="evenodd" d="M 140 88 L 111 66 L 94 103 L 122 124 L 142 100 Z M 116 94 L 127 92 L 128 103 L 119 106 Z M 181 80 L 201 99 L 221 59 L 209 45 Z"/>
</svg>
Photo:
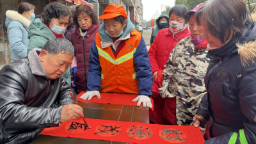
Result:
<svg viewBox="0 0 256 144">
<path fill-rule="evenodd" d="M 20 60 L 27 56 L 29 24 L 30 21 L 20 13 L 12 10 L 6 11 L 5 26 L 7 28 L 12 61 Z"/>
</svg>

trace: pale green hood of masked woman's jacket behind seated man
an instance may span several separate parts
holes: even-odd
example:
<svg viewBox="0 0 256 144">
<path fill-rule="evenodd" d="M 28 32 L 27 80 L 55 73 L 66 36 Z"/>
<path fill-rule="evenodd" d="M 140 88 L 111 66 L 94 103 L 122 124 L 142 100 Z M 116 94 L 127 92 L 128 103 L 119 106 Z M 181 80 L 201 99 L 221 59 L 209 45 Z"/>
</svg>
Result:
<svg viewBox="0 0 256 144">
<path fill-rule="evenodd" d="M 33 35 L 42 36 L 47 40 L 55 38 L 56 36 L 52 33 L 51 29 L 49 29 L 41 19 L 35 19 L 31 22 L 28 31 L 28 38 Z"/>
</svg>

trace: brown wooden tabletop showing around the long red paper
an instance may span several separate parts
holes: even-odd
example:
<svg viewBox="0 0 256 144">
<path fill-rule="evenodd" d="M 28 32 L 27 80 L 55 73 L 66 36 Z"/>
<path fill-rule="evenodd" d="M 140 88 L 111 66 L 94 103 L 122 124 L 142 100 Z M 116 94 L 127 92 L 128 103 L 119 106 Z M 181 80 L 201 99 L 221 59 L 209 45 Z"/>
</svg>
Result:
<svg viewBox="0 0 256 144">
<path fill-rule="evenodd" d="M 149 110 L 137 106 L 126 106 L 117 104 L 99 104 L 93 102 L 78 102 L 84 109 L 84 118 L 95 118 L 102 120 L 117 120 L 124 122 L 143 122 L 149 123 Z M 56 136 L 39 135 L 31 144 L 48 143 L 92 143 L 92 144 L 119 144 L 115 141 L 86 140 L 79 138 L 63 138 Z"/>
</svg>

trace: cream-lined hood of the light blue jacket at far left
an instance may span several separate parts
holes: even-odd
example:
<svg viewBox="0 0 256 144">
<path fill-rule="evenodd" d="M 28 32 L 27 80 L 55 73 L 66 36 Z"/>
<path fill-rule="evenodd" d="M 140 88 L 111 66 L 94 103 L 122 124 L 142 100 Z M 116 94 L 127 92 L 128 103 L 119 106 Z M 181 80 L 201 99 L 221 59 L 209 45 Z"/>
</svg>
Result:
<svg viewBox="0 0 256 144">
<path fill-rule="evenodd" d="M 23 15 L 20 15 L 20 13 L 13 11 L 13 10 L 8 10 L 8 11 L 6 11 L 5 15 L 6 15 L 6 20 L 5 20 L 6 27 L 8 27 L 8 25 L 10 24 L 10 22 L 12 22 L 12 20 L 17 20 L 23 26 L 25 26 L 26 28 L 29 28 L 30 20 L 28 20 Z"/>
</svg>

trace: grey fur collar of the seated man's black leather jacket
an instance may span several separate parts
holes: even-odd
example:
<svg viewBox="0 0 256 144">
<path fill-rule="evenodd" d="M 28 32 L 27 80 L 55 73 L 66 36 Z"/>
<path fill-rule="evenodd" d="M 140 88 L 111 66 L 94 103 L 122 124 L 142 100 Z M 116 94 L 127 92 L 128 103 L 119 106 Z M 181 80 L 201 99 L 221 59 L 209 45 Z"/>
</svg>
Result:
<svg viewBox="0 0 256 144">
<path fill-rule="evenodd" d="M 31 52 L 28 54 L 28 61 L 29 61 L 29 66 L 31 68 L 32 74 L 36 76 L 43 76 L 47 77 L 45 70 L 42 66 L 42 63 L 38 57 L 38 54 L 40 54 L 41 49 L 32 49 Z M 47 77 L 48 78 L 48 77 Z"/>
</svg>

